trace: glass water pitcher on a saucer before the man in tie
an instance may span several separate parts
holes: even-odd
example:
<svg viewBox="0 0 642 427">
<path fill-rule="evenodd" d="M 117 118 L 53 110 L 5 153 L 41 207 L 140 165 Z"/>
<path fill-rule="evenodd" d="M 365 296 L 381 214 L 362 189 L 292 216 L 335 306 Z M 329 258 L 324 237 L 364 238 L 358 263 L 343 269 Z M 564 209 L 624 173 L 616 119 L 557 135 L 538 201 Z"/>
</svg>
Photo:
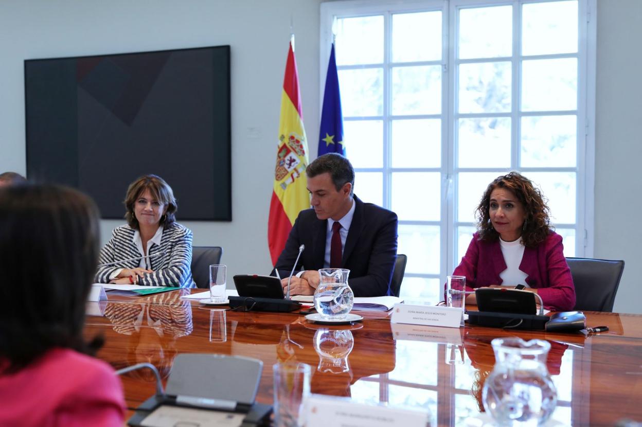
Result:
<svg viewBox="0 0 642 427">
<path fill-rule="evenodd" d="M 348 286 L 350 270 L 322 268 L 320 283 L 315 291 L 317 312 L 327 320 L 343 320 L 354 304 L 354 293 Z"/>
</svg>

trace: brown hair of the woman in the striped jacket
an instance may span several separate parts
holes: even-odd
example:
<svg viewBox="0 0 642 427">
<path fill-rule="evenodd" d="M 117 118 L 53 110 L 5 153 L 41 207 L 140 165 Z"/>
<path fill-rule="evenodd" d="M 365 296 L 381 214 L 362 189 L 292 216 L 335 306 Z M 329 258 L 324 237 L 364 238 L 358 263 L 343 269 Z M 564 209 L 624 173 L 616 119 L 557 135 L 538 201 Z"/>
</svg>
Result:
<svg viewBox="0 0 642 427">
<path fill-rule="evenodd" d="M 175 212 L 178 208 L 174 192 L 171 187 L 161 177 L 157 175 L 143 175 L 139 179 L 129 184 L 127 195 L 123 203 L 125 204 L 125 219 L 132 229 L 138 229 L 138 220 L 134 214 L 134 205 L 136 200 L 143 195 L 145 190 L 149 190 L 152 196 L 160 203 L 167 205 L 165 214 L 160 217 L 160 225 L 169 227 L 176 221 Z"/>
</svg>

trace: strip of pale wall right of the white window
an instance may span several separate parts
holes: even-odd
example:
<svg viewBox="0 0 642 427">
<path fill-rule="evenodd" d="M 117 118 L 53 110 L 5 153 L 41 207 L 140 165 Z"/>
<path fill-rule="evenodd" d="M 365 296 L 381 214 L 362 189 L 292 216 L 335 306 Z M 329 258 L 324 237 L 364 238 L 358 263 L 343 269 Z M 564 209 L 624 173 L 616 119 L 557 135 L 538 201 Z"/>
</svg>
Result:
<svg viewBox="0 0 642 427">
<path fill-rule="evenodd" d="M 613 309 L 642 313 L 642 1 L 597 3 L 594 257 L 625 260 Z"/>
</svg>

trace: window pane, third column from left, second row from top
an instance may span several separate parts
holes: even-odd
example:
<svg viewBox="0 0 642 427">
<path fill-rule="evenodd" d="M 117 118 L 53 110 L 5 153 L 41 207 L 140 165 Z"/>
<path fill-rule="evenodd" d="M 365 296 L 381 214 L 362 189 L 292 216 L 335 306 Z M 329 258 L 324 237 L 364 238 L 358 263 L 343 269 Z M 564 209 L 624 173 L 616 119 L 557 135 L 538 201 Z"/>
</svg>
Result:
<svg viewBox="0 0 642 427">
<path fill-rule="evenodd" d="M 459 112 L 510 112 L 510 79 L 510 62 L 459 65 Z"/>
</svg>

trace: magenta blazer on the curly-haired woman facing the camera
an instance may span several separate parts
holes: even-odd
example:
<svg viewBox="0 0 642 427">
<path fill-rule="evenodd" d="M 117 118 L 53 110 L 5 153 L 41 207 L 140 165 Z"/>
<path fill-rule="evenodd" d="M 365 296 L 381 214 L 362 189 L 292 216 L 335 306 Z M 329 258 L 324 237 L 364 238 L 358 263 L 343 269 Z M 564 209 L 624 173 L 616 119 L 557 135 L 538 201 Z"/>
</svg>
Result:
<svg viewBox="0 0 642 427">
<path fill-rule="evenodd" d="M 572 310 L 575 306 L 575 286 L 568 268 L 562 245 L 562 236 L 551 231 L 537 248 L 525 248 L 519 270 L 525 272 L 526 283 L 537 289 L 544 308 L 555 311 Z M 466 277 L 466 288 L 502 284 L 499 273 L 506 270 L 499 240 L 482 241 L 479 233 L 473 235 L 462 262 L 453 275 Z M 515 284 L 515 283 L 507 283 Z"/>
</svg>

